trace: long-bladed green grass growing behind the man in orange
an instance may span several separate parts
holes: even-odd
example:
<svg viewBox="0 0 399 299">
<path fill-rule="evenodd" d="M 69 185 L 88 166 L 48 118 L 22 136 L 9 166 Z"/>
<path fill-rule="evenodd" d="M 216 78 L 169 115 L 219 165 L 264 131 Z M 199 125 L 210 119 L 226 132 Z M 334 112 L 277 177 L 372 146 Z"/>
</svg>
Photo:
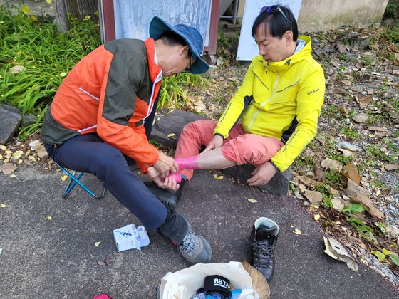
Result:
<svg viewBox="0 0 399 299">
<path fill-rule="evenodd" d="M 78 61 L 100 46 L 98 23 L 69 17 L 70 30 L 58 33 L 49 21 L 22 11 L 10 14 L 0 6 L 0 103 L 18 107 L 36 120 L 21 128 L 24 140 L 38 132 L 63 78 Z M 202 88 L 199 75 L 182 73 L 164 78 L 158 109 L 182 107 L 187 90 Z"/>
</svg>

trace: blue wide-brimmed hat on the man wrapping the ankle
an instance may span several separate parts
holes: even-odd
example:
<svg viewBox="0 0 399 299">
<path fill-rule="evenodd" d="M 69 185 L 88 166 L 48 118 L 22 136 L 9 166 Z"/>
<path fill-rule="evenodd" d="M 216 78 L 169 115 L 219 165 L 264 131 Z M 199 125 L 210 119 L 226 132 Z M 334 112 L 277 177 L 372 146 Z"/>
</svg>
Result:
<svg viewBox="0 0 399 299">
<path fill-rule="evenodd" d="M 171 26 L 158 16 L 154 16 L 154 18 L 152 18 L 150 23 L 150 38 L 157 39 L 162 35 L 162 33 L 168 30 L 171 30 L 181 36 L 190 47 L 192 57 L 194 58 L 194 63 L 191 65 L 190 73 L 205 73 L 209 69 L 209 65 L 201 57 L 202 49 L 204 48 L 204 42 L 202 41 L 202 36 L 199 34 L 197 29 L 185 24 Z"/>
</svg>

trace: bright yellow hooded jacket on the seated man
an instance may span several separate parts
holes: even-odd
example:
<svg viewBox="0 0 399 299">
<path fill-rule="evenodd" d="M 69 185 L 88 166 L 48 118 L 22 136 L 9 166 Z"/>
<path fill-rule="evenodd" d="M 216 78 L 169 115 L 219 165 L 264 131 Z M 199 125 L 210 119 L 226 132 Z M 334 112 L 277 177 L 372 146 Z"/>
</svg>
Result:
<svg viewBox="0 0 399 299">
<path fill-rule="evenodd" d="M 268 63 L 256 56 L 244 81 L 217 123 L 214 135 L 227 138 L 242 117 L 245 132 L 276 137 L 285 145 L 271 158 L 286 170 L 315 137 L 326 90 L 323 69 L 311 56 L 311 38 L 284 61 Z"/>
</svg>

